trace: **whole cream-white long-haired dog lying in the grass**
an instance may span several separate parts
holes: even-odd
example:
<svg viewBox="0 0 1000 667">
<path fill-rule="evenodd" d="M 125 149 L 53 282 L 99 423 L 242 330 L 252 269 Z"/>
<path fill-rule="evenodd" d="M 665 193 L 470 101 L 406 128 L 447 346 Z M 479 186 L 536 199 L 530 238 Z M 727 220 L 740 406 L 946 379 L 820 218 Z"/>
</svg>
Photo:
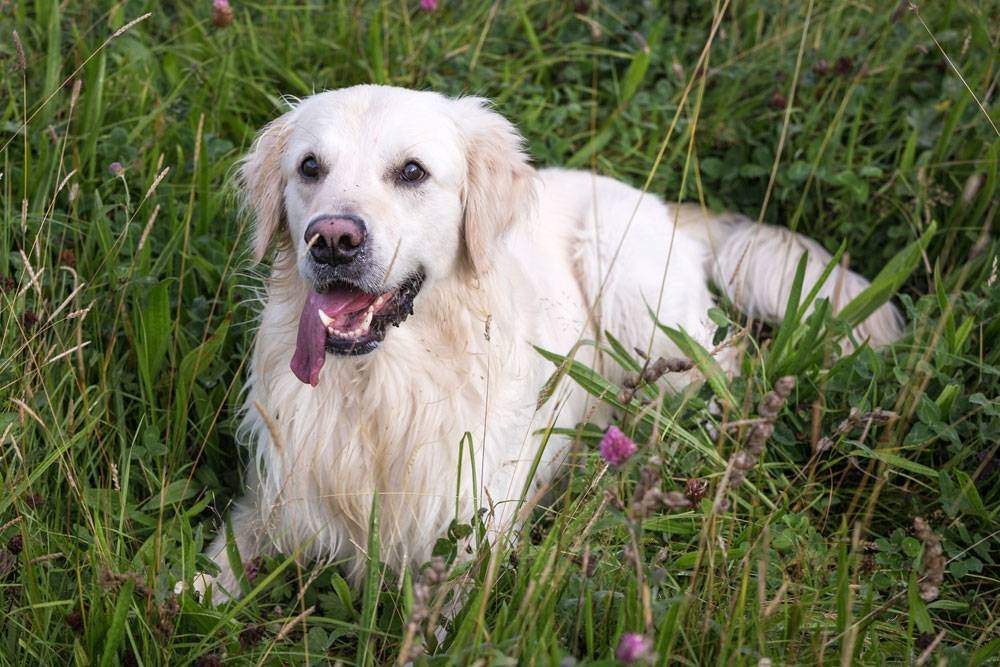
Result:
<svg viewBox="0 0 1000 667">
<path fill-rule="evenodd" d="M 253 461 L 232 513 L 236 546 L 243 559 L 341 561 L 355 577 L 373 494 L 379 556 L 419 565 L 449 522 L 481 507 L 494 538 L 516 527 L 519 503 L 567 449 L 552 438 L 538 451 L 555 410 L 565 425 L 606 418 L 569 381 L 537 408 L 555 367 L 533 345 L 599 364 L 593 346 L 574 346 L 606 329 L 629 349 L 677 356 L 652 308 L 711 349 L 710 282 L 775 320 L 801 254 L 807 288 L 830 259 L 784 229 L 586 172 L 536 171 L 515 127 L 474 97 L 384 86 L 314 95 L 263 129 L 241 177 L 254 254 L 275 252 L 248 380 Z M 838 269 L 820 296 L 843 306 L 867 284 Z M 884 306 L 855 334 L 880 345 L 900 328 Z M 735 372 L 737 356 L 719 362 Z M 602 371 L 621 379 L 611 366 Z M 215 600 L 238 595 L 224 531 L 208 555 L 221 569 Z"/>
</svg>

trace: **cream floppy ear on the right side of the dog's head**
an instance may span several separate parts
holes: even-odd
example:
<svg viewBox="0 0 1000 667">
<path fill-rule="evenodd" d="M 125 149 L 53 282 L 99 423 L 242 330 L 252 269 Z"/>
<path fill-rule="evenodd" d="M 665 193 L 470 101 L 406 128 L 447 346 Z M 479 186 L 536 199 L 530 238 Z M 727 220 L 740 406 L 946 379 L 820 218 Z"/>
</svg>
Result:
<svg viewBox="0 0 1000 667">
<path fill-rule="evenodd" d="M 468 179 L 463 234 L 477 276 L 490 270 L 497 242 L 534 204 L 535 170 L 517 128 L 481 97 L 464 97 L 458 123 L 465 136 Z"/>
</svg>

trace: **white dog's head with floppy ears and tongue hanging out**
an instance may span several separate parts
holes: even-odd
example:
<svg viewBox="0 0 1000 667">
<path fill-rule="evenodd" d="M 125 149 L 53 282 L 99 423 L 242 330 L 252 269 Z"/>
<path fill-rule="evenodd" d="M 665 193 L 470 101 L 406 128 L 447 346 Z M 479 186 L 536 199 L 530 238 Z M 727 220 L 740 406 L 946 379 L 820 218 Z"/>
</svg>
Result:
<svg viewBox="0 0 1000 667">
<path fill-rule="evenodd" d="M 304 283 L 300 380 L 327 352 L 375 350 L 422 289 L 490 270 L 530 205 L 521 143 L 481 98 L 384 86 L 314 95 L 261 131 L 240 176 L 256 258 L 278 245 Z"/>
</svg>

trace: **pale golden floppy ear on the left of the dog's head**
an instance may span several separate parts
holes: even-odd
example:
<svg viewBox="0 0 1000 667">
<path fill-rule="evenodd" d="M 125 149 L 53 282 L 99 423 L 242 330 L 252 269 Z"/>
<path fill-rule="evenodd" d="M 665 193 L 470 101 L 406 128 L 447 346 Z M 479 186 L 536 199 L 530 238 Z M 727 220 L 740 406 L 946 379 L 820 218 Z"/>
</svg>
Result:
<svg viewBox="0 0 1000 667">
<path fill-rule="evenodd" d="M 289 115 L 286 113 L 264 126 L 240 165 L 244 201 L 253 209 L 252 248 L 258 262 L 264 259 L 275 237 L 287 235 L 281 154 L 288 141 Z"/>
</svg>

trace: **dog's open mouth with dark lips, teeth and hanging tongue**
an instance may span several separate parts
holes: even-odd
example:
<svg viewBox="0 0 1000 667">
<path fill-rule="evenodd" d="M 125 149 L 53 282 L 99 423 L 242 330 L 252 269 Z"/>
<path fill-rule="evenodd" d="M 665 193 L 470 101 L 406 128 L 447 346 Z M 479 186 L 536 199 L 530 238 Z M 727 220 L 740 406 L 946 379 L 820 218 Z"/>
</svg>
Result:
<svg viewBox="0 0 1000 667">
<path fill-rule="evenodd" d="M 424 274 L 418 272 L 387 292 L 366 292 L 346 282 L 310 290 L 292 356 L 295 377 L 315 387 L 327 352 L 357 355 L 374 350 L 390 326 L 399 326 L 413 313 L 413 299 L 423 282 Z"/>
</svg>

